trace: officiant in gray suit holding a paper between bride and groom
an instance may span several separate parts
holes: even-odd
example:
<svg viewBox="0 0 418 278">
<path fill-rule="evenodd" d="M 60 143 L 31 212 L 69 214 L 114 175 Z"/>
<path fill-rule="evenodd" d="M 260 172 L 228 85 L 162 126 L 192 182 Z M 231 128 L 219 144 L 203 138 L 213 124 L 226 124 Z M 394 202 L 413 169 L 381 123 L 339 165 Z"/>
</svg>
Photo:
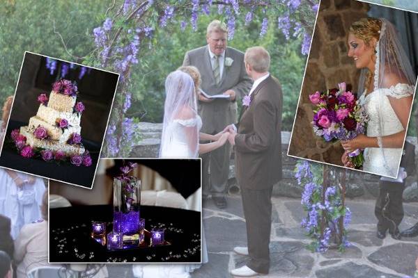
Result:
<svg viewBox="0 0 418 278">
<path fill-rule="evenodd" d="M 249 92 L 252 81 L 245 72 L 244 54 L 227 47 L 228 29 L 219 20 L 208 25 L 204 47 L 187 51 L 183 65 L 193 65 L 201 73 L 201 90 L 209 96 L 226 95 L 224 98 L 205 97 L 199 94 L 201 131 L 216 134 L 225 126 L 238 122 L 237 103 Z M 229 174 L 231 147 L 225 144 L 202 158 L 203 197 L 212 195 L 215 205 L 226 207 L 226 183 Z M 210 174 L 209 174 L 210 169 Z"/>
</svg>

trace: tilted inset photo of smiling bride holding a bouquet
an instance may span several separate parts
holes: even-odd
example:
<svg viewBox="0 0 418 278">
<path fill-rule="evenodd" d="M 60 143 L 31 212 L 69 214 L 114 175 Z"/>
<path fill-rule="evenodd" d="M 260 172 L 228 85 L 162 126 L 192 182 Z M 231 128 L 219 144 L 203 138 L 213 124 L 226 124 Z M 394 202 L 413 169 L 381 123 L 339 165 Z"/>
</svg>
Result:
<svg viewBox="0 0 418 278">
<path fill-rule="evenodd" d="M 412 11 L 321 1 L 288 156 L 404 177 L 417 24 Z"/>
</svg>

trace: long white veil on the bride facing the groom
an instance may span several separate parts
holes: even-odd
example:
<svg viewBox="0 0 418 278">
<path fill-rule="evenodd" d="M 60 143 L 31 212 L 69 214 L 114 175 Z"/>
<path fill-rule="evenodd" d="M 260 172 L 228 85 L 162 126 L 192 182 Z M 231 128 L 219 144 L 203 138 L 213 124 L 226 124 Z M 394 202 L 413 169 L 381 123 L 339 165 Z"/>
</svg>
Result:
<svg viewBox="0 0 418 278">
<path fill-rule="evenodd" d="M 189 74 L 176 70 L 167 76 L 165 88 L 166 100 L 159 156 L 164 156 L 167 148 L 172 147 L 170 143 L 173 140 L 173 133 L 176 132 L 175 129 L 184 129 L 189 154 L 198 157 L 199 126 L 196 122 L 197 101 L 193 79 Z M 180 125 L 174 125 L 175 121 L 180 122 Z M 184 154 L 184 157 L 188 156 Z"/>
</svg>

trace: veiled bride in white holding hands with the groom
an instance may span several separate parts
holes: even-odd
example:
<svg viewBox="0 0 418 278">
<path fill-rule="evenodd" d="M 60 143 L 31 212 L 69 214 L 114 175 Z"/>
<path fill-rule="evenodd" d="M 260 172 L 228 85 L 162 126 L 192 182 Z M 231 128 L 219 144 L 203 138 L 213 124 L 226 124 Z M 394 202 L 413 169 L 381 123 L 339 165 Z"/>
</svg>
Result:
<svg viewBox="0 0 418 278">
<path fill-rule="evenodd" d="M 199 88 L 200 73 L 196 67 L 180 67 L 167 76 L 166 100 L 164 103 L 164 123 L 160 146 L 163 158 L 197 158 L 199 154 L 211 152 L 222 147 L 229 133 L 215 136 L 199 132 L 201 117 L 197 114 L 196 89 Z M 211 140 L 199 144 L 201 140 Z M 202 263 L 208 262 L 208 251 L 202 228 Z M 189 278 L 189 272 L 200 268 L 199 263 L 180 263 L 168 265 L 146 265 L 133 268 L 134 276 L 141 278 Z"/>
</svg>

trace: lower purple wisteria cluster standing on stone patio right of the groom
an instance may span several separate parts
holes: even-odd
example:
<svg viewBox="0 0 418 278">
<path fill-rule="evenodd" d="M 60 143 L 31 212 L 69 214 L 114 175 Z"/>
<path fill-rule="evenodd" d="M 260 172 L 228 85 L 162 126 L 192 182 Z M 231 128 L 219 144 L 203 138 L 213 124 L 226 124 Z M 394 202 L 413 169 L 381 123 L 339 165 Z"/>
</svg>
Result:
<svg viewBox="0 0 418 278">
<path fill-rule="evenodd" d="M 344 204 L 345 189 L 343 185 L 328 183 L 327 167 L 308 161 L 297 161 L 295 167 L 297 183 L 304 188 L 301 203 L 307 211 L 301 226 L 314 240 L 308 245 L 313 252 L 326 252 L 333 245 L 343 251 L 350 246 L 346 227 L 351 211 Z"/>
</svg>

